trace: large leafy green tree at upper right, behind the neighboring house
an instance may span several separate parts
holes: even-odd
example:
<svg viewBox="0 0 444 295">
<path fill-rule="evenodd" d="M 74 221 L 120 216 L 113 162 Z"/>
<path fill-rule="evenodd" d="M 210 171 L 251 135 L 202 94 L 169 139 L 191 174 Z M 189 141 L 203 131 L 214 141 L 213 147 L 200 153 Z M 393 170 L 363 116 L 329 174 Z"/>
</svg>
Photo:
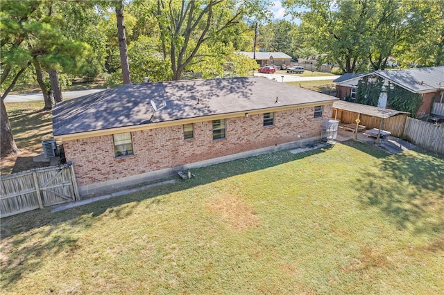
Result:
<svg viewBox="0 0 444 295">
<path fill-rule="evenodd" d="M 384 69 L 389 57 L 410 53 L 409 60 L 418 59 L 418 43 L 426 59 L 430 53 L 441 56 L 443 0 L 286 0 L 283 6 L 302 18 L 305 46 L 321 53 L 323 62 L 339 64 L 344 73 Z M 301 6 L 307 10 L 298 12 Z"/>
</svg>

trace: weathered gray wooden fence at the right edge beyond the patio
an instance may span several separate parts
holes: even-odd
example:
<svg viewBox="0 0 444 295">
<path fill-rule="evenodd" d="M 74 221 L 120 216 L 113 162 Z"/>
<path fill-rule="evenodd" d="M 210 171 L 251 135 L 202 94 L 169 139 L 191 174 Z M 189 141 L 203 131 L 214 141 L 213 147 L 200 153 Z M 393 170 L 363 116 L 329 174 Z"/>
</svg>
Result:
<svg viewBox="0 0 444 295">
<path fill-rule="evenodd" d="M 407 118 L 404 128 L 404 138 L 407 138 L 407 140 L 426 150 L 444 154 L 443 126 Z"/>
</svg>

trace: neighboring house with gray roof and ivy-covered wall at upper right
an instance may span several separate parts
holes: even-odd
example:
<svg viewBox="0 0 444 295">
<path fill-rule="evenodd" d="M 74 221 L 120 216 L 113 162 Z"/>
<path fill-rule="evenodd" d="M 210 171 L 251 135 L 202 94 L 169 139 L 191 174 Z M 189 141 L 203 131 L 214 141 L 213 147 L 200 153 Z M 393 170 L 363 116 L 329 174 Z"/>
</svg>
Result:
<svg viewBox="0 0 444 295">
<path fill-rule="evenodd" d="M 373 71 L 364 74 L 346 73 L 340 78 L 333 80 L 336 84 L 336 93 L 342 100 L 353 101 L 356 99 L 357 86 L 359 80 L 370 78 L 376 80 L 382 78 L 383 89 L 379 96 L 377 107 L 387 107 L 388 87 L 402 87 L 411 93 L 418 93 L 422 96 L 420 107 L 416 111 L 417 117 L 436 114 L 439 109 L 443 109 L 444 96 L 444 66 L 434 66 L 420 69 L 402 69 L 390 71 Z M 434 111 L 436 109 L 436 111 Z M 444 116 L 444 114 L 442 114 Z"/>
</svg>

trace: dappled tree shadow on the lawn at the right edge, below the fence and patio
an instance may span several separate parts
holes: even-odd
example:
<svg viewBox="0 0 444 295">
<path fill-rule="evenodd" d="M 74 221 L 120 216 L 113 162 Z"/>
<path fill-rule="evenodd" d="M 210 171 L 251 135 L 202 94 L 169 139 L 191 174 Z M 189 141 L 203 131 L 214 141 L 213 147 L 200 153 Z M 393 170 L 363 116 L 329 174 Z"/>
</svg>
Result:
<svg viewBox="0 0 444 295">
<path fill-rule="evenodd" d="M 378 208 L 400 229 L 444 233 L 444 158 L 417 150 L 379 159 L 379 171 L 364 170 L 356 181 L 361 203 Z"/>
</svg>

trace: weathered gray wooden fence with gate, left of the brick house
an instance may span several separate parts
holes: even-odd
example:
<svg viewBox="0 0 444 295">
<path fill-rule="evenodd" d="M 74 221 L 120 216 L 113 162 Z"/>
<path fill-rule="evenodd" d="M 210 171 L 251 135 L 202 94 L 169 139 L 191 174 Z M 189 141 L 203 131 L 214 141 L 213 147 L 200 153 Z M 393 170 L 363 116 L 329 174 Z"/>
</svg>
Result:
<svg viewBox="0 0 444 295">
<path fill-rule="evenodd" d="M 0 177 L 0 216 L 78 201 L 72 163 Z"/>
</svg>

